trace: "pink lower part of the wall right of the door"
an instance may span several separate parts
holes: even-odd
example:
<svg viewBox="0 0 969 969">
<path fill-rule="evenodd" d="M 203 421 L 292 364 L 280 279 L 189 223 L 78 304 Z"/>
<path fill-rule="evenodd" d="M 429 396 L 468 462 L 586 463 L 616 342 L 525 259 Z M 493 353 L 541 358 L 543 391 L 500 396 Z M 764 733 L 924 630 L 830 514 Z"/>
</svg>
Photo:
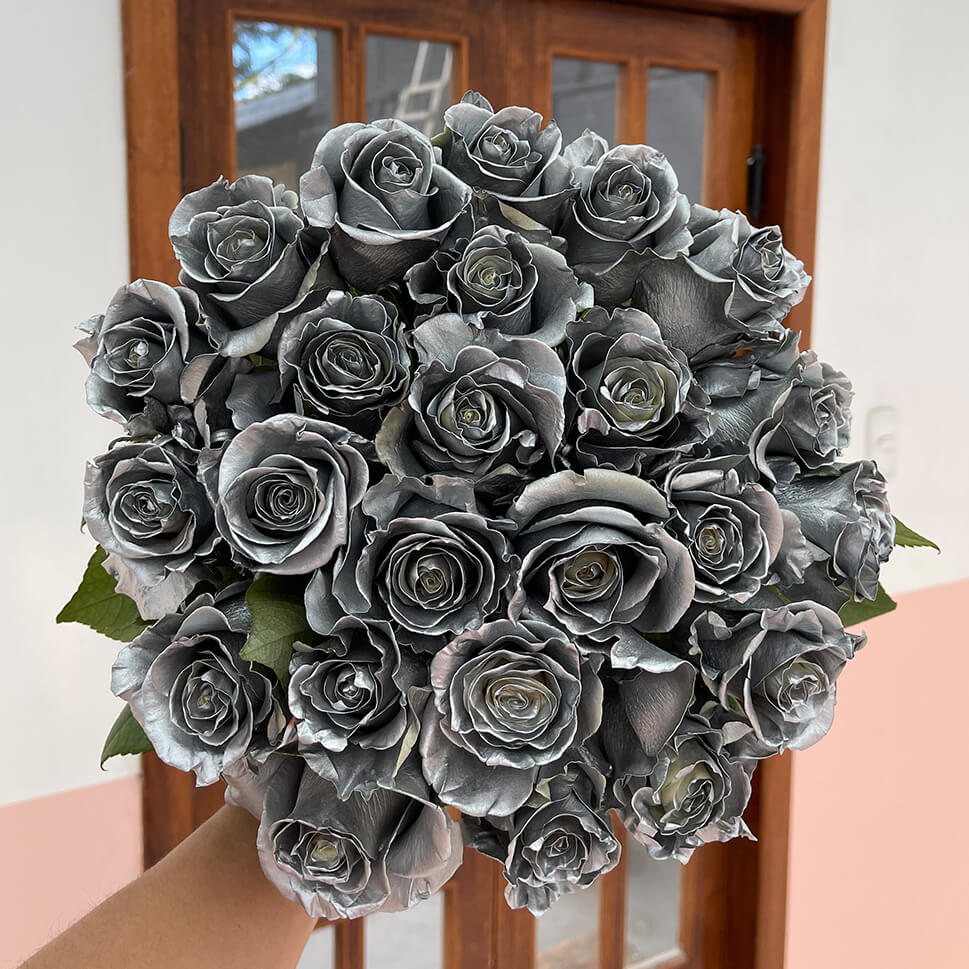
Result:
<svg viewBox="0 0 969 969">
<path fill-rule="evenodd" d="M 898 601 L 795 755 L 785 969 L 969 965 L 969 581 Z"/>
</svg>

